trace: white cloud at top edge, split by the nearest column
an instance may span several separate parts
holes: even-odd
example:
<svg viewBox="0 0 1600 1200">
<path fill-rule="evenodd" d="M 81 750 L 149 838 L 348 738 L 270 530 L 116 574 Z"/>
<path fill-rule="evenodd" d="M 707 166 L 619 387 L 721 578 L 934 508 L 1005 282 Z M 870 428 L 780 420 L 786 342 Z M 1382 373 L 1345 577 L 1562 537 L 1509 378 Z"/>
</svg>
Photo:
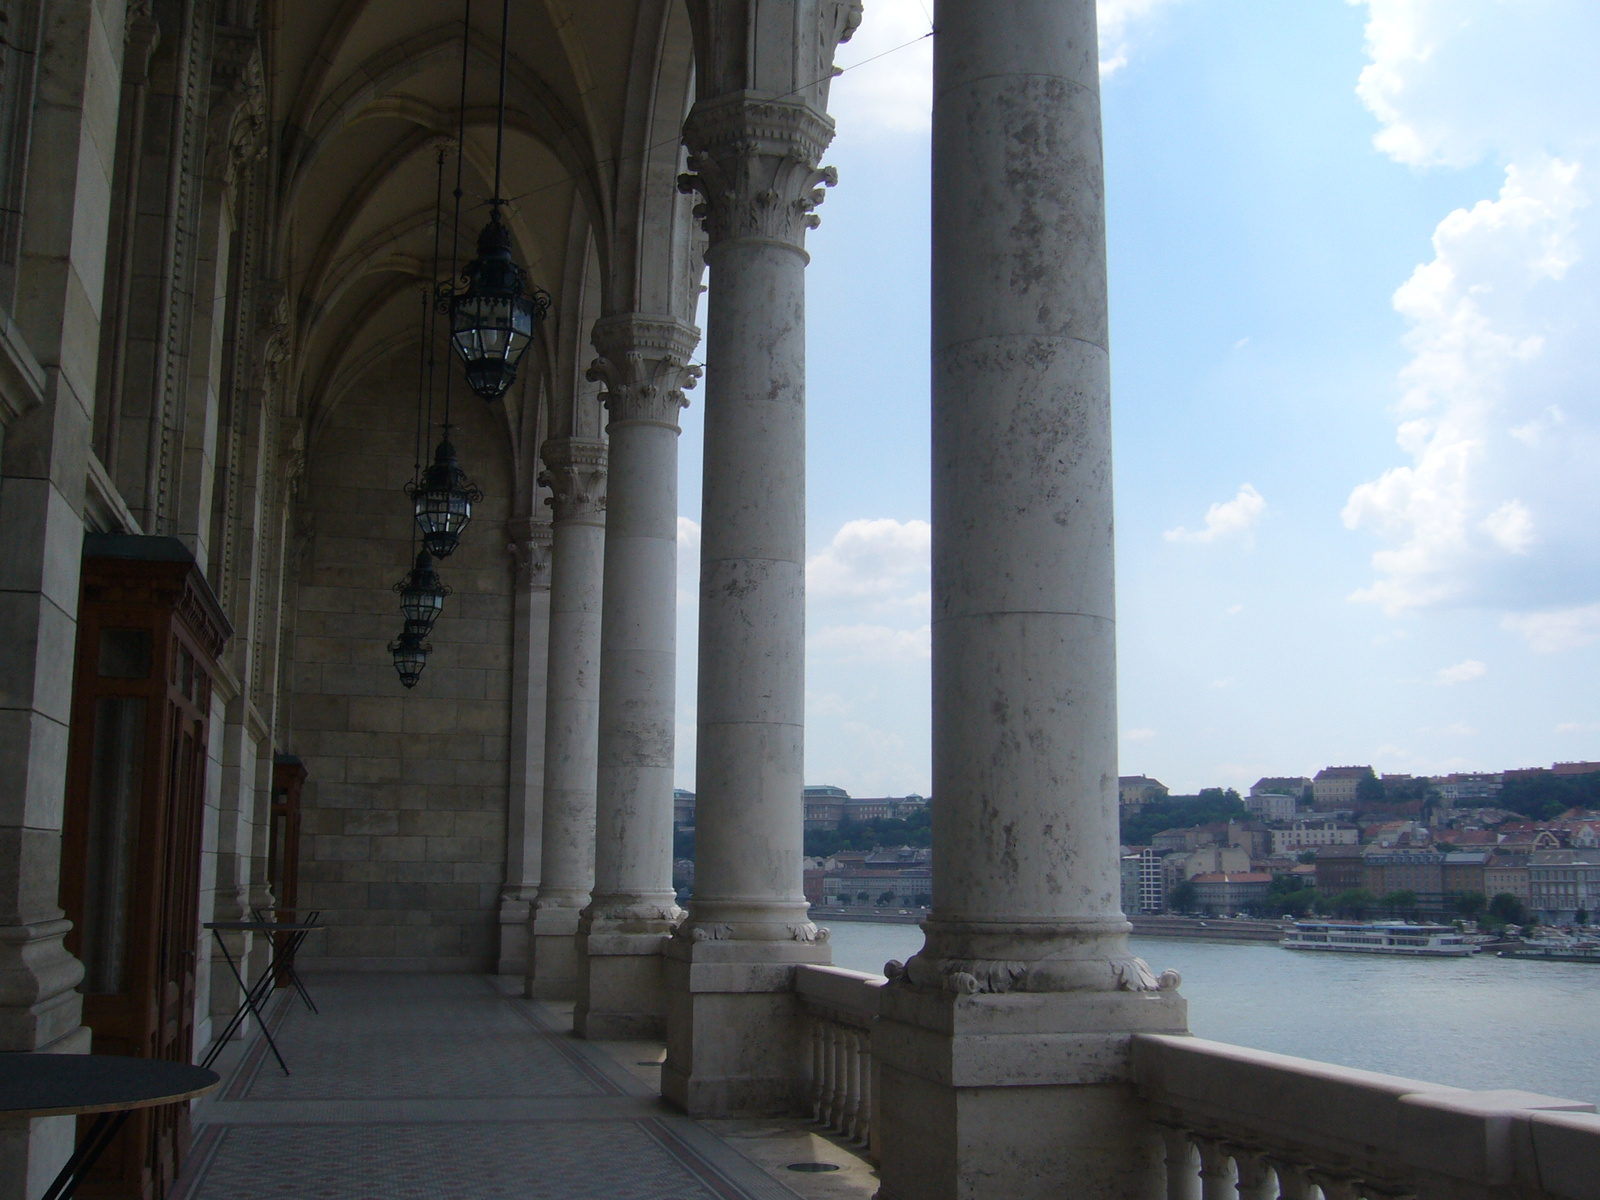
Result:
<svg viewBox="0 0 1600 1200">
<path fill-rule="evenodd" d="M 1101 78 L 1125 67 L 1139 30 L 1178 0 L 1099 0 Z M 870 0 L 861 29 L 838 48 L 845 74 L 829 91 L 843 131 L 925 133 L 933 115 L 933 0 Z"/>
</svg>

